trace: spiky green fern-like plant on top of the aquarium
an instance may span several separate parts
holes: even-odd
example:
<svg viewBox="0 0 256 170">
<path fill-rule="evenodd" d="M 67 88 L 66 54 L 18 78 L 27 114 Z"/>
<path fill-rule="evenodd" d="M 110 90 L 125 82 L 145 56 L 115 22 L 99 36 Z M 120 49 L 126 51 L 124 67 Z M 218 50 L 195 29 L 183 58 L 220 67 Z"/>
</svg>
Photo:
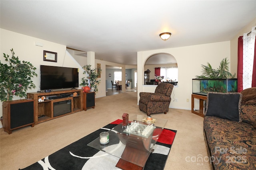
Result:
<svg viewBox="0 0 256 170">
<path fill-rule="evenodd" d="M 211 64 L 207 62 L 207 65 L 202 65 L 202 75 L 196 76 L 196 78 L 234 78 L 236 74 L 232 75 L 229 72 L 228 59 L 222 59 L 220 66 L 217 69 L 212 68 Z"/>
</svg>

